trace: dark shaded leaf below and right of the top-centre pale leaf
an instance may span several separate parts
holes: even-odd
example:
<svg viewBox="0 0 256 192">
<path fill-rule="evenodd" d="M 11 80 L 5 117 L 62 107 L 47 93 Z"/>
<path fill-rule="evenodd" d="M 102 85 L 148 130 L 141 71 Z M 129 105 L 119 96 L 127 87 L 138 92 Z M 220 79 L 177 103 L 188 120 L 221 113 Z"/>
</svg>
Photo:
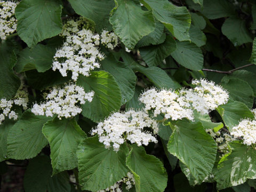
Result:
<svg viewBox="0 0 256 192">
<path fill-rule="evenodd" d="M 142 47 L 140 55 L 149 67 L 158 66 L 171 52 L 176 49 L 176 43 L 171 36 L 167 36 L 165 42 L 160 45 Z"/>
</svg>

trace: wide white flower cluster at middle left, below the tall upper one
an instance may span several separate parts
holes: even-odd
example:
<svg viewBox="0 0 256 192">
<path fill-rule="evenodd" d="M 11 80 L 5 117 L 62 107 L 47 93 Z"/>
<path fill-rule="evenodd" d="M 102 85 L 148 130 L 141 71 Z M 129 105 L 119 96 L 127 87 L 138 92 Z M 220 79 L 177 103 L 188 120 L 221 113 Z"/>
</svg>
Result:
<svg viewBox="0 0 256 192">
<path fill-rule="evenodd" d="M 72 117 L 82 112 L 82 109 L 77 105 L 84 104 L 85 101 L 92 101 L 94 92 L 85 93 L 83 87 L 69 84 L 62 89 L 53 88 L 46 97 L 46 102 L 38 105 L 34 104 L 31 112 L 35 115 L 53 116 L 58 115 L 61 117 Z"/>
</svg>

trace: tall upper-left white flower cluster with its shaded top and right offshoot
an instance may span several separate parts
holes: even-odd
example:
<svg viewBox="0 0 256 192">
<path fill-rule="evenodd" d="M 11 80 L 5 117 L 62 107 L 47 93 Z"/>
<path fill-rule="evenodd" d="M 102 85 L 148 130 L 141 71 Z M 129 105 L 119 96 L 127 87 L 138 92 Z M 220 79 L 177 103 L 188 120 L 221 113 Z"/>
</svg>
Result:
<svg viewBox="0 0 256 192">
<path fill-rule="evenodd" d="M 94 34 L 86 25 L 84 18 L 70 20 L 63 26 L 62 37 L 66 38 L 63 46 L 54 55 L 52 69 L 58 69 L 62 76 L 72 71 L 72 79 L 77 81 L 78 75 L 90 76 L 90 71 L 99 68 L 99 61 L 104 56 L 99 51 L 102 43 L 110 49 L 117 45 L 117 36 L 103 30 L 101 36 Z"/>
</svg>

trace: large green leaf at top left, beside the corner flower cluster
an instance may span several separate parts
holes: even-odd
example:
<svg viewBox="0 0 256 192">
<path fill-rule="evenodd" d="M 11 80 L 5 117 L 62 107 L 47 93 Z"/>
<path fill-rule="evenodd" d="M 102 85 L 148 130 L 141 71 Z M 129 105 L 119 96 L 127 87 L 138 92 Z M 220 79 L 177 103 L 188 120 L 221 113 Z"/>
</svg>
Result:
<svg viewBox="0 0 256 192">
<path fill-rule="evenodd" d="M 61 10 L 58 0 L 22 0 L 15 9 L 18 35 L 31 47 L 60 34 Z"/>
</svg>

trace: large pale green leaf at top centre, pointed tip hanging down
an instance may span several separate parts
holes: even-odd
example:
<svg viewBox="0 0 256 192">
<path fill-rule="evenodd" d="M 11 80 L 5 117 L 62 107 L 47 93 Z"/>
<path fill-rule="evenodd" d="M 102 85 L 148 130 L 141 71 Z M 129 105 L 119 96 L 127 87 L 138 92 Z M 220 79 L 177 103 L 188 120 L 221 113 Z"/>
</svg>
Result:
<svg viewBox="0 0 256 192">
<path fill-rule="evenodd" d="M 155 29 L 155 19 L 151 11 L 142 11 L 140 5 L 130 0 L 116 0 L 109 21 L 115 33 L 128 49 Z M 143 26 L 143 27 L 138 27 Z"/>
</svg>

